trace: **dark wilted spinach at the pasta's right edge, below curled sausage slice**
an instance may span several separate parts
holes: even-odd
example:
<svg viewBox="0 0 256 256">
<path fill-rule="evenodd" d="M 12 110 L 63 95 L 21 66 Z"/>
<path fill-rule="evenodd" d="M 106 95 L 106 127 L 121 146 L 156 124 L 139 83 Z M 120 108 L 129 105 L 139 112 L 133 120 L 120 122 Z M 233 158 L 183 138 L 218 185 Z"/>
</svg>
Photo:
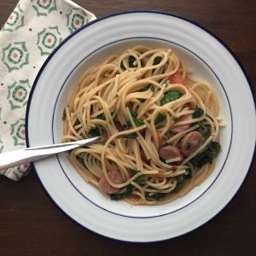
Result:
<svg viewBox="0 0 256 256">
<path fill-rule="evenodd" d="M 212 160 L 218 156 L 220 151 L 220 144 L 217 142 L 211 142 L 208 147 L 201 152 L 201 154 L 195 155 L 195 157 L 190 160 L 193 166 L 201 168 L 201 166 L 207 163 L 212 163 Z"/>
</svg>

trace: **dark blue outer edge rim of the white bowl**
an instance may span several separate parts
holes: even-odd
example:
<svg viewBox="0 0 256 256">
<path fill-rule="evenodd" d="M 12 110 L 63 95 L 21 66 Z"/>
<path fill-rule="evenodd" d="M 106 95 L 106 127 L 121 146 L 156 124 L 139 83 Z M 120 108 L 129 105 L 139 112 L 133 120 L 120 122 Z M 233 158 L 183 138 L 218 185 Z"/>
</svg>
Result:
<svg viewBox="0 0 256 256">
<path fill-rule="evenodd" d="M 29 139 L 28 139 L 28 126 L 27 126 L 27 120 L 28 120 L 28 117 L 29 117 L 29 109 L 30 109 L 30 104 L 31 104 L 31 101 L 32 101 L 32 95 L 33 95 L 33 92 L 35 90 L 35 87 L 36 87 L 36 84 L 38 83 L 38 79 L 40 78 L 41 74 L 43 73 L 44 71 L 44 68 L 47 66 L 48 62 L 51 60 L 51 58 L 55 55 L 55 53 L 58 51 L 58 49 L 61 48 L 61 46 L 63 44 L 66 44 L 66 42 L 70 39 L 70 38 L 73 38 L 74 35 L 76 35 L 77 33 L 79 33 L 80 31 L 82 31 L 84 28 L 88 27 L 88 26 L 91 26 L 93 25 L 94 23 L 98 22 L 98 21 L 101 21 L 101 20 L 106 20 L 110 17 L 113 17 L 113 16 L 117 16 L 117 15 L 128 15 L 128 14 L 157 14 L 157 15 L 166 15 L 166 16 L 171 16 L 171 17 L 175 17 L 179 20 L 184 20 L 194 26 L 197 26 L 199 28 L 201 28 L 202 31 L 204 32 L 207 32 L 209 35 L 212 36 L 212 38 L 215 38 L 220 44 L 222 44 L 224 46 L 224 48 L 230 53 L 230 55 L 232 55 L 232 57 L 234 58 L 234 60 L 236 61 L 236 63 L 238 64 L 238 66 L 241 68 L 241 71 L 242 73 L 244 74 L 245 78 L 247 79 L 247 84 L 249 85 L 249 88 L 251 90 L 251 94 L 252 94 L 252 97 L 253 97 L 253 102 L 254 102 L 254 113 L 255 113 L 255 98 L 254 98 L 254 94 L 253 94 L 253 86 L 252 86 L 252 83 L 245 71 L 245 68 L 242 66 L 241 64 L 241 61 L 238 60 L 238 58 L 236 57 L 236 55 L 233 53 L 233 51 L 229 48 L 229 46 L 227 44 L 224 43 L 224 41 L 220 38 L 218 38 L 218 36 L 216 36 L 214 33 L 212 33 L 210 30 L 208 30 L 206 27 L 204 26 L 201 26 L 199 23 L 195 22 L 194 20 L 189 20 L 181 15 L 175 15 L 175 14 L 172 14 L 172 13 L 167 13 L 167 12 L 163 12 L 163 11 L 158 11 L 158 10 L 131 10 L 131 11 L 124 11 L 124 12 L 118 12 L 118 13 L 113 13 L 111 15 L 105 15 L 101 18 L 97 18 L 96 20 L 92 20 L 90 21 L 88 24 L 80 27 L 77 31 L 73 32 L 73 34 L 67 36 L 67 38 L 65 38 L 61 44 L 59 44 L 53 51 L 52 53 L 49 55 L 49 57 L 47 58 L 46 61 L 44 61 L 44 64 L 43 66 L 40 68 L 39 72 L 38 72 L 38 75 L 32 85 L 32 90 L 31 90 L 31 93 L 29 95 L 29 98 L 28 98 L 28 101 L 27 101 L 27 108 L 26 108 L 26 147 L 30 147 L 30 144 L 29 144 Z M 239 189 L 241 189 L 241 185 L 243 184 L 244 182 L 244 179 L 247 177 L 247 174 L 248 172 L 250 171 L 251 167 L 252 167 L 252 164 L 253 164 L 253 159 L 255 157 L 255 142 L 254 142 L 254 149 L 253 149 L 253 158 L 251 160 L 251 163 L 248 167 L 248 170 L 247 170 L 247 173 L 245 175 L 245 177 L 243 178 L 243 180 L 241 181 L 241 184 L 240 186 L 236 189 L 236 193 L 234 193 L 234 195 L 230 198 L 230 201 L 228 201 L 223 207 L 221 207 L 218 212 L 212 216 L 211 218 L 207 219 L 207 221 L 203 222 L 202 224 L 200 224 L 198 227 L 196 227 L 195 229 L 193 230 L 197 230 L 199 228 L 201 228 L 204 224 L 207 224 L 207 222 L 209 222 L 212 218 L 215 218 L 217 217 L 217 215 L 224 209 L 224 207 L 226 207 L 235 197 L 235 195 L 237 194 L 237 192 L 239 191 Z M 44 192 L 46 193 L 46 195 L 49 197 L 49 199 L 53 202 L 53 204 L 55 205 L 55 207 L 57 207 L 63 214 L 65 214 L 67 216 L 67 218 L 69 218 L 70 220 L 72 220 L 75 224 L 78 224 L 81 228 L 83 228 L 84 230 L 90 230 L 89 228 L 85 227 L 83 224 L 80 224 L 78 221 L 76 221 L 74 218 L 72 218 L 70 215 L 67 214 L 67 212 L 64 212 L 64 210 L 54 201 L 54 199 L 51 197 L 51 195 L 49 195 L 49 192 L 47 191 L 47 189 L 45 189 L 44 187 L 44 184 L 42 183 L 42 181 L 40 180 L 40 178 L 38 177 L 38 172 L 36 171 L 36 168 L 34 166 L 34 164 L 32 164 L 32 167 L 33 167 L 33 170 L 35 171 L 35 175 L 38 179 L 38 183 L 40 183 L 41 187 L 44 189 Z M 175 236 L 175 237 L 169 237 L 169 238 L 166 238 L 166 239 L 161 239 L 161 240 L 157 240 L 157 239 L 154 239 L 152 241 L 154 242 L 158 242 L 158 241 L 166 241 L 166 240 L 170 240 L 170 239 L 174 239 L 174 238 L 177 238 L 177 237 L 180 237 L 180 236 L 184 236 L 190 232 L 192 232 L 193 230 L 189 230 L 188 232 L 185 232 L 179 236 Z M 102 235 L 100 233 L 97 233 L 96 231 L 94 230 L 90 230 L 92 233 L 98 235 L 98 236 L 103 236 L 103 237 L 106 237 L 108 239 L 111 239 L 111 240 L 115 240 L 115 241 L 126 241 L 126 240 L 122 240 L 122 239 L 118 239 L 118 238 L 113 238 L 113 237 L 110 237 L 110 236 L 105 236 L 105 235 Z M 150 241 L 150 242 L 152 242 Z M 149 242 L 149 241 L 126 241 L 126 242 L 138 242 L 138 243 L 145 243 L 145 242 Z"/>
</svg>

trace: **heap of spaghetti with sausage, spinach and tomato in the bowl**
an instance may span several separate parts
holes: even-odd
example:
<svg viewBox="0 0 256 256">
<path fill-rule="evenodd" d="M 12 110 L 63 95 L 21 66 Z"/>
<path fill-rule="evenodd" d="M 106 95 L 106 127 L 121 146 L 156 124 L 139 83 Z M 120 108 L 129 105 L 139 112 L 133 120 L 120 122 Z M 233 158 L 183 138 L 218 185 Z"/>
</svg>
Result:
<svg viewBox="0 0 256 256">
<path fill-rule="evenodd" d="M 63 141 L 102 135 L 69 160 L 112 200 L 165 204 L 212 172 L 218 98 L 172 49 L 137 45 L 86 70 L 64 109 Z"/>
</svg>

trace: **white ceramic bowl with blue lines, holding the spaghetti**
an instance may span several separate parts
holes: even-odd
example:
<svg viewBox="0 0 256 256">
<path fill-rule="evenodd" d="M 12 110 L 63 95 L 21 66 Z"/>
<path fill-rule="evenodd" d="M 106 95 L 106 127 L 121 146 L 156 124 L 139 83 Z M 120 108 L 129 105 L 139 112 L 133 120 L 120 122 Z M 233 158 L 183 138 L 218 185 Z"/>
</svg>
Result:
<svg viewBox="0 0 256 256">
<path fill-rule="evenodd" d="M 26 139 L 30 147 L 60 143 L 63 108 L 79 75 L 137 44 L 172 48 L 195 77 L 207 80 L 217 92 L 226 127 L 220 132 L 222 151 L 207 181 L 164 206 L 132 207 L 106 199 L 85 183 L 65 154 L 34 167 L 55 205 L 83 227 L 123 241 L 160 241 L 194 230 L 223 209 L 240 188 L 253 158 L 256 130 L 250 86 L 230 50 L 210 32 L 181 17 L 151 11 L 110 15 L 84 26 L 49 56 L 38 73 L 28 102 Z"/>
</svg>

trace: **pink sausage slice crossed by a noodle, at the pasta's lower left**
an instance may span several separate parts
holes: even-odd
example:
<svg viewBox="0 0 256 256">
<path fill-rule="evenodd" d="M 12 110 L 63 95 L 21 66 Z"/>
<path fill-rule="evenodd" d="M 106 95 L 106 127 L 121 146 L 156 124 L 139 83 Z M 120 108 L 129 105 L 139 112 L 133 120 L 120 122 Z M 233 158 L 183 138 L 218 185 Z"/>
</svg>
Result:
<svg viewBox="0 0 256 256">
<path fill-rule="evenodd" d="M 115 184 L 121 184 L 124 182 L 123 177 L 121 176 L 121 173 L 118 171 L 110 171 L 108 172 L 109 179 L 115 183 Z M 105 194 L 114 194 L 119 191 L 118 188 L 113 188 L 107 181 L 106 177 L 101 177 L 99 181 L 99 189 L 102 191 L 102 193 Z"/>
</svg>

